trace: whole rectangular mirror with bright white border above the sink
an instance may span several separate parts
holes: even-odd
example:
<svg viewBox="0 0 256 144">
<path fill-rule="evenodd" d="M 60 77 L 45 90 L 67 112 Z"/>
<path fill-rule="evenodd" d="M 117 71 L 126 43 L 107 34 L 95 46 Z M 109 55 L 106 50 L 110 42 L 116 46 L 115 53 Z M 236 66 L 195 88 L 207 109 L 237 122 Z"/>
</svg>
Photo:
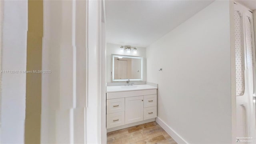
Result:
<svg viewBox="0 0 256 144">
<path fill-rule="evenodd" d="M 112 54 L 112 81 L 142 81 L 143 58 Z"/>
</svg>

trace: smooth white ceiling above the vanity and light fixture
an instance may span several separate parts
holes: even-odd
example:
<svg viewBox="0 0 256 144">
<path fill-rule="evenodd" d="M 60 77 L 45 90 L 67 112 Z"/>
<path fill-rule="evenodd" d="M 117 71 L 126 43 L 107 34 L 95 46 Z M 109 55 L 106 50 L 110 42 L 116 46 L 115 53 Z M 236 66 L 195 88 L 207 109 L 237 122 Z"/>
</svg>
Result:
<svg viewBox="0 0 256 144">
<path fill-rule="evenodd" d="M 107 43 L 146 47 L 213 0 L 106 0 Z"/>
</svg>

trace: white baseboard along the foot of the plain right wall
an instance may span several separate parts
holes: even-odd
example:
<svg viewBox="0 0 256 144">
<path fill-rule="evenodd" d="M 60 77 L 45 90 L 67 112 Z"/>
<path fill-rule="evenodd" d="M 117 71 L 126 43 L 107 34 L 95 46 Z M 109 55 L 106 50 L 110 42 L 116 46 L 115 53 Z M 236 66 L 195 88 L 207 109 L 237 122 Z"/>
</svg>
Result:
<svg viewBox="0 0 256 144">
<path fill-rule="evenodd" d="M 168 126 L 160 118 L 156 118 L 156 122 L 178 143 L 178 144 L 188 144 L 179 134 L 177 134 L 170 126 Z"/>
</svg>

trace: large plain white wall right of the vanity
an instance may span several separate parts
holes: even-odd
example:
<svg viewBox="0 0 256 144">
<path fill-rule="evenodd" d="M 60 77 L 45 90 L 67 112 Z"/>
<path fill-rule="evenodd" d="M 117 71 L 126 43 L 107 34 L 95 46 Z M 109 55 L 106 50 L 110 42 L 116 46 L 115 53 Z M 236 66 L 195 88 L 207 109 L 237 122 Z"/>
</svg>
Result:
<svg viewBox="0 0 256 144">
<path fill-rule="evenodd" d="M 185 142 L 231 143 L 230 59 L 228 1 L 213 2 L 148 46 L 147 81 L 159 86 L 158 120 Z"/>
</svg>

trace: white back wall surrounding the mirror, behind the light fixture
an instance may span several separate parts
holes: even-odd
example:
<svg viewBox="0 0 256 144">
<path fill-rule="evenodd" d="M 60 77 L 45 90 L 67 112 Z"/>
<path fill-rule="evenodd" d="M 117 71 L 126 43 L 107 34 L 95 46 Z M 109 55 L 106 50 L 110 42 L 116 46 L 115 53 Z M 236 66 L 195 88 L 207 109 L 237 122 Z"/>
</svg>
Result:
<svg viewBox="0 0 256 144">
<path fill-rule="evenodd" d="M 146 48 L 142 47 L 136 47 L 137 48 L 137 54 L 134 54 L 133 51 L 131 50 L 130 54 L 124 50 L 124 52 L 120 51 L 120 46 L 119 44 L 108 44 L 107 43 L 107 48 L 106 48 L 106 55 L 107 55 L 107 82 L 111 82 L 112 76 L 111 76 L 111 71 L 112 71 L 112 56 L 111 54 L 122 54 L 122 55 L 128 55 L 128 56 L 140 56 L 144 58 L 144 81 L 146 80 Z"/>
</svg>

